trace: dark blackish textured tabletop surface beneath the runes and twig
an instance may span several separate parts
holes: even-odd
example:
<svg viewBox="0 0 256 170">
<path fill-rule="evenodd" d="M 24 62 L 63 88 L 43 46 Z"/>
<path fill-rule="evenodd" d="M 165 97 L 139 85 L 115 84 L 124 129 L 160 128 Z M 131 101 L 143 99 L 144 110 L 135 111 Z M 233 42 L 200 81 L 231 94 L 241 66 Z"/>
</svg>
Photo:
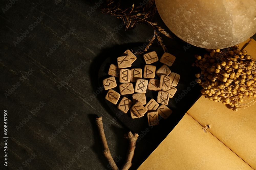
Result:
<svg viewBox="0 0 256 170">
<path fill-rule="evenodd" d="M 7 0 L 1 1 L 1 8 L 8 3 Z M 191 63 L 196 51 L 202 49 L 191 47 L 185 51 L 187 43 L 177 37 L 163 37 L 169 53 L 177 57 L 171 70 L 181 75 L 174 98 L 187 87 L 191 90 L 178 103 L 174 98 L 170 99 L 169 107 L 173 114 L 153 128 L 148 127 L 146 117 L 137 120 L 130 120 L 128 115 L 117 117 L 115 106 L 104 100 L 104 90 L 94 97 L 106 75 L 103 66 L 114 61 L 127 48 L 142 46 L 153 32 L 151 27 L 145 25 L 138 25 L 132 31 L 125 31 L 124 28 L 115 31 L 121 21 L 105 16 L 99 10 L 89 16 L 87 11 L 92 6 L 87 1 L 18 0 L 5 13 L 1 11 L 0 101 L 1 112 L 8 109 L 9 169 L 63 169 L 68 164 L 72 164 L 68 169 L 109 169 L 94 122 L 98 116 L 103 116 L 104 125 L 111 125 L 105 128 L 105 134 L 118 166 L 123 164 L 127 152 L 127 140 L 123 135 L 131 129 L 143 136 L 137 142 L 131 168 L 136 169 L 175 127 L 199 95 L 200 87 L 192 88 L 190 84 L 197 73 L 197 68 L 191 67 Z M 37 17 L 43 19 L 31 30 L 29 25 L 36 22 Z M 158 14 L 155 20 L 166 28 Z M 75 29 L 73 33 L 65 40 L 61 39 L 70 28 Z M 27 30 L 29 34 L 15 45 L 17 37 Z M 99 47 L 106 38 L 109 41 Z M 49 48 L 58 42 L 61 43 L 58 48 L 47 56 Z M 156 49 L 159 54 L 163 53 L 159 47 Z M 27 76 L 29 69 L 34 71 Z M 69 77 L 70 74 L 72 76 Z M 62 87 L 64 80 L 67 83 Z M 17 82 L 20 83 L 17 89 L 5 97 L 8 89 Z M 40 102 L 44 102 L 44 106 Z M 73 113 L 77 115 L 74 117 Z M 72 121 L 66 121 L 68 119 Z M 17 130 L 24 120 L 28 121 Z M 1 129 L 2 125 L 3 119 Z M 56 128 L 61 127 L 64 129 L 55 138 L 49 139 L 52 133 L 57 134 Z M 150 131 L 144 135 L 141 131 L 146 128 Z M 0 134 L 4 135 L 3 130 Z M 3 155 L 1 141 L 0 152 Z M 37 156 L 27 164 L 25 161 L 29 161 L 34 153 Z M 0 167 L 6 168 L 3 162 Z"/>
</svg>

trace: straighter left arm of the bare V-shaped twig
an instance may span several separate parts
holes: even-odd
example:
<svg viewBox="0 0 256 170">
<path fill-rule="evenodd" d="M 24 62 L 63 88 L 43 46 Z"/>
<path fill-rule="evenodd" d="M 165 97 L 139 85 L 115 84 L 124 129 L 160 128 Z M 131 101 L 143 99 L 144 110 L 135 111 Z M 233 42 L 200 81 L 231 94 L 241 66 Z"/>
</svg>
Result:
<svg viewBox="0 0 256 170">
<path fill-rule="evenodd" d="M 102 117 L 98 117 L 95 119 L 95 122 L 97 124 L 99 134 L 100 134 L 100 139 L 102 142 L 102 147 L 103 147 L 103 154 L 106 157 L 106 159 L 109 161 L 110 166 L 112 167 L 113 170 L 118 170 L 118 167 L 115 164 L 115 161 L 113 160 L 108 143 L 105 137 L 104 129 L 103 129 L 103 124 L 102 124 Z"/>
</svg>

